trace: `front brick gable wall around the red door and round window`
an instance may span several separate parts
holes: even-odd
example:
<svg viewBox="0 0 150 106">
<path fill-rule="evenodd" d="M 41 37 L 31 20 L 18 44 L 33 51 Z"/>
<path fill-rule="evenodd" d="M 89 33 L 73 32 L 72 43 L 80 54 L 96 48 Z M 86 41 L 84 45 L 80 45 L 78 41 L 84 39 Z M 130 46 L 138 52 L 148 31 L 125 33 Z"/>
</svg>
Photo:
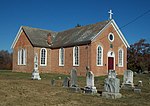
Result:
<svg viewBox="0 0 150 106">
<path fill-rule="evenodd" d="M 114 41 L 110 42 L 108 39 L 108 34 L 113 32 Z M 96 66 L 96 48 L 98 45 L 103 47 L 103 66 Z M 113 48 L 110 48 L 110 44 L 113 45 Z M 118 50 L 122 48 L 124 51 L 124 67 L 116 66 L 118 64 Z M 113 51 L 115 53 L 115 70 L 117 74 L 123 74 L 123 71 L 127 69 L 127 49 L 123 42 L 121 41 L 117 32 L 115 32 L 112 25 L 110 25 L 105 31 L 101 33 L 92 43 L 91 43 L 91 70 L 96 76 L 106 75 L 108 70 L 108 57 L 107 53 L 109 51 Z"/>
</svg>

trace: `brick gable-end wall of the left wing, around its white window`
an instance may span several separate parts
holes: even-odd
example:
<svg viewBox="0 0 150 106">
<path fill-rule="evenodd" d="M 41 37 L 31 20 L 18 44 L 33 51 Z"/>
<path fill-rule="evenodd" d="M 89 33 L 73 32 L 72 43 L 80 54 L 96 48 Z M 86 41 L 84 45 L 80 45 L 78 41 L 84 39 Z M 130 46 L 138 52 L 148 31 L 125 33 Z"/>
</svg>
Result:
<svg viewBox="0 0 150 106">
<path fill-rule="evenodd" d="M 26 65 L 18 65 L 18 50 L 19 48 L 26 49 Z M 34 59 L 33 46 L 29 42 L 25 33 L 22 32 L 14 49 L 13 49 L 13 71 L 15 72 L 32 72 Z"/>
</svg>

